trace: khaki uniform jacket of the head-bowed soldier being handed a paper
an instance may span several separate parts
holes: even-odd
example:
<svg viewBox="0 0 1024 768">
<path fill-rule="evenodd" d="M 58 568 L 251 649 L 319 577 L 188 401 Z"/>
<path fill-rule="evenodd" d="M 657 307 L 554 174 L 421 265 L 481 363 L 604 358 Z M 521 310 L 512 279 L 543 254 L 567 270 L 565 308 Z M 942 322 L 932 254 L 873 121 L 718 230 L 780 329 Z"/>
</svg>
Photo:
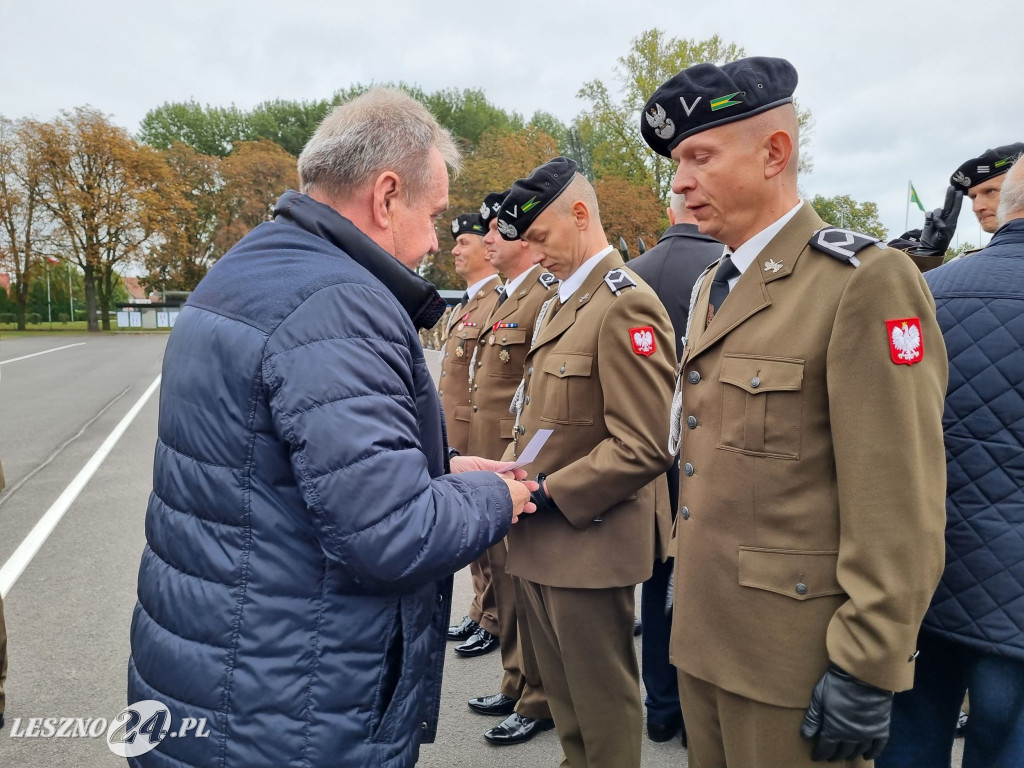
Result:
<svg viewBox="0 0 1024 768">
<path fill-rule="evenodd" d="M 519 519 L 509 531 L 508 570 L 537 584 L 643 582 L 654 562 L 655 512 L 671 514 L 672 324 L 646 284 L 615 295 L 605 275 L 622 266 L 609 253 L 554 314 L 552 302 L 526 355 L 521 433 L 505 458 L 537 430 L 553 429 L 526 469 L 547 475 L 561 513 Z"/>
</svg>

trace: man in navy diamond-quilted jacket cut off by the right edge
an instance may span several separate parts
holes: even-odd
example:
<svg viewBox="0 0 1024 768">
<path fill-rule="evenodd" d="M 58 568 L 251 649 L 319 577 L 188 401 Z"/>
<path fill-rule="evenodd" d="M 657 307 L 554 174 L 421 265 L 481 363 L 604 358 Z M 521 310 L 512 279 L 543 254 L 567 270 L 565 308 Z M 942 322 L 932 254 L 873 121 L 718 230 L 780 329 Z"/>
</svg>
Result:
<svg viewBox="0 0 1024 768">
<path fill-rule="evenodd" d="M 925 275 L 949 355 L 946 567 L 897 693 L 880 768 L 948 766 L 964 691 L 964 768 L 1024 766 L 1024 163 L 988 246 Z"/>
</svg>

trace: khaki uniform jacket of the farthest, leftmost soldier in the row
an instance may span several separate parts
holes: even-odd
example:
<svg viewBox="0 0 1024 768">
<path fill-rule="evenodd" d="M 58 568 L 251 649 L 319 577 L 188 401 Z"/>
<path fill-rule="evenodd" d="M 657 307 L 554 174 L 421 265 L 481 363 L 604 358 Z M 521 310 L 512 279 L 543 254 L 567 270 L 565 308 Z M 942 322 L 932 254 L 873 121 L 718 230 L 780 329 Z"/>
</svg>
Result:
<svg viewBox="0 0 1024 768">
<path fill-rule="evenodd" d="M 469 402 L 469 364 L 473 359 L 480 331 L 486 326 L 490 311 L 498 306 L 498 275 L 459 304 L 449 317 L 441 343 L 441 376 L 437 394 L 444 409 L 449 445 L 460 454 L 469 447 L 469 421 L 473 413 Z"/>
</svg>

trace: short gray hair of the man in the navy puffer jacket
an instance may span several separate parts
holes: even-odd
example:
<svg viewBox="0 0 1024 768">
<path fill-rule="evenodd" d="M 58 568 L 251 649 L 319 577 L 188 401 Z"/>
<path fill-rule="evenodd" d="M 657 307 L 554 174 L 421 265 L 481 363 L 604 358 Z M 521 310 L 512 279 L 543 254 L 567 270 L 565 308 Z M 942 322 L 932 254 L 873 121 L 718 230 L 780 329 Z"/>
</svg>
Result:
<svg viewBox="0 0 1024 768">
<path fill-rule="evenodd" d="M 430 184 L 434 146 L 457 174 L 459 150 L 427 108 L 401 91 L 374 88 L 324 118 L 299 156 L 299 190 L 344 200 L 392 171 L 412 200 Z"/>
</svg>

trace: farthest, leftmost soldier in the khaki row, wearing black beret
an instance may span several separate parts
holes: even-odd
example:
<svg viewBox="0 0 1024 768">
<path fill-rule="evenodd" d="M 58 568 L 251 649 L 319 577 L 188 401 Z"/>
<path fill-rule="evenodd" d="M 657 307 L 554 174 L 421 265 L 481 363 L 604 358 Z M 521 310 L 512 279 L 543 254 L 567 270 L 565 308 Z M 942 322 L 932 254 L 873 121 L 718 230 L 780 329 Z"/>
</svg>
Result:
<svg viewBox="0 0 1024 768">
<path fill-rule="evenodd" d="M 452 220 L 455 247 L 455 270 L 466 281 L 463 301 L 449 316 L 441 343 L 441 375 L 437 393 L 444 409 L 449 445 L 460 454 L 469 446 L 469 425 L 473 407 L 469 401 L 470 362 L 476 353 L 477 340 L 490 310 L 498 305 L 501 281 L 498 270 L 486 258 L 483 236 L 487 227 L 477 213 L 465 213 Z M 470 563 L 473 602 L 460 625 L 449 628 L 450 640 L 462 640 L 456 646 L 460 655 L 479 655 L 498 647 L 498 615 L 486 555 Z"/>
</svg>

